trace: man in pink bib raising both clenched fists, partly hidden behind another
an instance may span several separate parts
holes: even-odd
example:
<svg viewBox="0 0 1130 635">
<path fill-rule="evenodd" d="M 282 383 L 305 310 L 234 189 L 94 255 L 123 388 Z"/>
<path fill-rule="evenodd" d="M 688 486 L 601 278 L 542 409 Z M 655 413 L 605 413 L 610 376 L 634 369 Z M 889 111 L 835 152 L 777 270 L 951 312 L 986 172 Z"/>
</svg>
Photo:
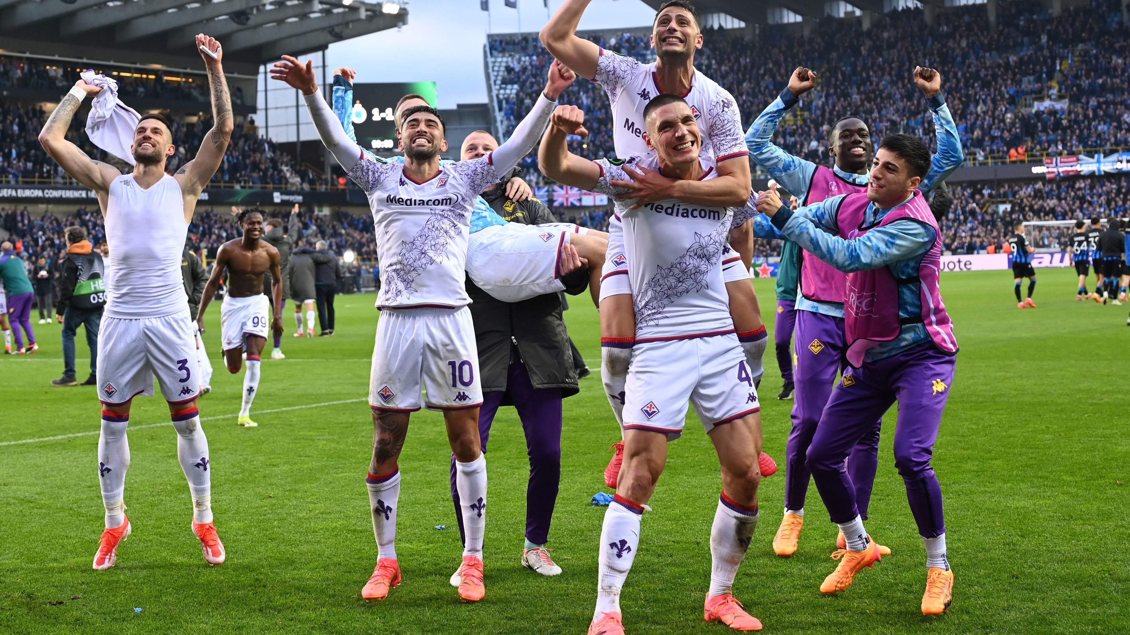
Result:
<svg viewBox="0 0 1130 635">
<path fill-rule="evenodd" d="M 929 193 L 960 165 L 962 145 L 957 127 L 941 94 L 941 76 L 933 69 L 915 68 L 913 80 L 933 113 L 938 137 L 938 154 L 931 157 L 930 172 L 919 184 L 923 193 Z M 803 67 L 797 68 L 781 95 L 758 115 L 746 133 L 746 143 L 754 162 L 768 172 L 786 192 L 800 199 L 801 207 L 836 194 L 866 191 L 868 168 L 875 155 L 870 129 L 862 119 L 854 115 L 843 116 L 832 127 L 828 139 L 832 167 L 790 155 L 773 143 L 773 131 L 777 123 L 797 105 L 800 96 L 815 86 L 816 73 Z M 786 240 L 764 218 L 758 218 L 755 227 L 758 237 Z M 767 234 L 763 235 L 763 229 Z M 782 261 L 782 269 L 785 264 Z M 843 371 L 842 354 L 845 346 L 844 294 L 847 276 L 803 250 L 799 264 L 799 297 L 796 305 L 797 394 L 792 410 L 793 426 L 785 446 L 784 515 L 773 539 L 773 550 L 782 557 L 792 556 L 799 545 L 809 481 L 805 455 L 832 394 L 836 374 Z M 847 459 L 847 471 L 855 487 L 863 520 L 867 520 L 878 466 L 880 424 L 877 419 L 875 427 L 860 440 Z M 837 545 L 843 548 L 842 536 L 837 538 Z M 889 554 L 884 546 L 879 549 Z"/>
</svg>

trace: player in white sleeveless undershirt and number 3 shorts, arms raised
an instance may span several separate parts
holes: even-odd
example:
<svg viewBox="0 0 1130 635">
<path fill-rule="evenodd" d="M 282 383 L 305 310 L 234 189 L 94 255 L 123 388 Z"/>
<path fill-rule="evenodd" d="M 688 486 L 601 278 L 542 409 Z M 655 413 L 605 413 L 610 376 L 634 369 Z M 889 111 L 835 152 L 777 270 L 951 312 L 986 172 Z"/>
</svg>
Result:
<svg viewBox="0 0 1130 635">
<path fill-rule="evenodd" d="M 118 546 L 132 530 L 122 502 L 130 466 L 125 428 L 133 398 L 153 394 L 154 375 L 168 401 L 177 434 L 176 454 L 192 493 L 192 530 L 209 564 L 225 558 L 212 524 L 212 464 L 197 410 L 195 341 L 181 277 L 181 253 L 197 198 L 219 167 L 235 122 L 219 43 L 203 34 L 197 35 L 195 43 L 215 54 L 201 52 L 214 123 L 195 158 L 176 174 L 165 173 L 165 162 L 176 147 L 168 121 L 159 114 L 141 116 L 131 148 L 137 165 L 129 174 L 92 159 L 68 141 L 67 129 L 82 99 L 102 90 L 82 80 L 62 98 L 40 133 L 47 154 L 97 194 L 111 246 L 107 304 L 98 337 L 98 479 L 106 530 L 94 557 L 96 569 L 114 566 Z"/>
</svg>

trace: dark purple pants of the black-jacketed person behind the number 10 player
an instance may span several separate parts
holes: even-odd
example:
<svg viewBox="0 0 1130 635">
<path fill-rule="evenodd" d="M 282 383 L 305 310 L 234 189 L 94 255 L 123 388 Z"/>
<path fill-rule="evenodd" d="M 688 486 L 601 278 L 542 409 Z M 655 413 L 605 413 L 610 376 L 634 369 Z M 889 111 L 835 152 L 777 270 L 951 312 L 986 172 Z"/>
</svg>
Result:
<svg viewBox="0 0 1130 635">
<path fill-rule="evenodd" d="M 503 400 L 510 397 L 525 433 L 525 453 L 530 458 L 530 480 L 525 488 L 525 539 L 534 545 L 549 540 L 549 523 L 557 504 L 562 480 L 562 391 L 556 388 L 533 388 L 530 372 L 516 351 L 511 356 L 505 391 L 483 393 L 479 406 L 479 440 L 483 453 L 490 438 L 490 424 Z M 455 489 L 455 456 L 451 458 L 451 499 L 460 539 L 466 542 L 463 515 Z"/>
</svg>

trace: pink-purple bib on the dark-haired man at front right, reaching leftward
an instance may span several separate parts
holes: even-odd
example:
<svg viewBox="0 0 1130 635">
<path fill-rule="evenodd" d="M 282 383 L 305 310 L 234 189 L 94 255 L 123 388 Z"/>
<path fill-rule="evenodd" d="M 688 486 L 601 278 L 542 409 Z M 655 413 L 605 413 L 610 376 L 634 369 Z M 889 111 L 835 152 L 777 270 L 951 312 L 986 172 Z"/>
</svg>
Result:
<svg viewBox="0 0 1130 635">
<path fill-rule="evenodd" d="M 915 190 L 909 201 L 888 211 L 878 225 L 864 228 L 864 212 L 870 202 L 867 193 L 844 197 L 836 215 L 841 238 L 849 241 L 858 238 L 875 227 L 883 227 L 903 218 L 913 218 L 933 227 L 936 238 L 930 250 L 922 256 L 918 279 L 898 280 L 889 267 L 855 271 L 846 276 L 844 334 L 847 363 L 857 368 L 860 367 L 867 349 L 897 338 L 904 323 L 921 322 L 938 348 L 946 353 L 956 353 L 957 339 L 954 337 L 954 324 L 946 313 L 939 289 L 941 242 L 938 237 L 941 236 L 941 230 L 938 229 L 938 221 L 935 220 L 925 197 Z M 899 320 L 898 285 L 913 282 L 919 282 L 921 315 Z"/>
</svg>

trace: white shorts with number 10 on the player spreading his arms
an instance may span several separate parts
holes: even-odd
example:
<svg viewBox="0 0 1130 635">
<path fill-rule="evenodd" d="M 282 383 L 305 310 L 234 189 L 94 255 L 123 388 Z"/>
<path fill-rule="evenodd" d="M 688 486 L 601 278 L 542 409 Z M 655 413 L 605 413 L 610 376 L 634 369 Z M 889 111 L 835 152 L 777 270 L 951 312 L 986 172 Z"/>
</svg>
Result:
<svg viewBox="0 0 1130 635">
<path fill-rule="evenodd" d="M 427 392 L 421 399 L 420 390 Z M 483 403 L 471 311 L 385 308 L 368 379 L 374 410 L 458 410 Z"/>
</svg>

